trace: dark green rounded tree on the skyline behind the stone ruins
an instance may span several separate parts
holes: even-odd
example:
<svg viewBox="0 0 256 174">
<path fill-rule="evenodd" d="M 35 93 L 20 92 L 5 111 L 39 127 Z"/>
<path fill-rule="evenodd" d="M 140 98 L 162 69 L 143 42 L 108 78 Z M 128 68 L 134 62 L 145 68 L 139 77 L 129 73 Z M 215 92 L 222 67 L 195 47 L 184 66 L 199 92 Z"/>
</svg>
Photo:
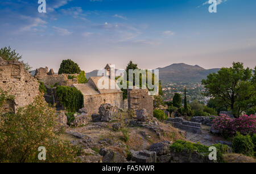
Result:
<svg viewBox="0 0 256 174">
<path fill-rule="evenodd" d="M 79 65 L 68 59 L 61 62 L 58 74 L 79 74 L 80 72 L 81 69 Z"/>
</svg>

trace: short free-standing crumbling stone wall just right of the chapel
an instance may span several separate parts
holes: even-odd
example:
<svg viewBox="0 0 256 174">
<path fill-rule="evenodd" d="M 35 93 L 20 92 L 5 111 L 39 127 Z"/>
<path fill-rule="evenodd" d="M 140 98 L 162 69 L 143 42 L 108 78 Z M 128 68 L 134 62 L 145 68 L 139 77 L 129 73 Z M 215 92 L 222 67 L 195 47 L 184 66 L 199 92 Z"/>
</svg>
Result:
<svg viewBox="0 0 256 174">
<path fill-rule="evenodd" d="M 153 117 L 153 99 L 148 95 L 148 90 L 129 89 L 128 90 L 128 109 L 136 112 L 137 110 L 146 109 L 148 116 Z"/>
</svg>

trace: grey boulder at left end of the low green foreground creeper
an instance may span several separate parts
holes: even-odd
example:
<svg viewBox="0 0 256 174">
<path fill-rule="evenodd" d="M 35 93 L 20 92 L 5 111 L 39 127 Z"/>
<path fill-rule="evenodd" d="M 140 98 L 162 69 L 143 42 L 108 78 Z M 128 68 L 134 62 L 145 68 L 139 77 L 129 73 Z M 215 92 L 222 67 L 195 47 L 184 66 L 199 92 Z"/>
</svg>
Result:
<svg viewBox="0 0 256 174">
<path fill-rule="evenodd" d="M 163 142 L 155 143 L 151 145 L 148 151 L 154 151 L 158 156 L 166 155 L 170 152 L 170 146 L 171 146 L 171 142 L 163 141 Z"/>
</svg>

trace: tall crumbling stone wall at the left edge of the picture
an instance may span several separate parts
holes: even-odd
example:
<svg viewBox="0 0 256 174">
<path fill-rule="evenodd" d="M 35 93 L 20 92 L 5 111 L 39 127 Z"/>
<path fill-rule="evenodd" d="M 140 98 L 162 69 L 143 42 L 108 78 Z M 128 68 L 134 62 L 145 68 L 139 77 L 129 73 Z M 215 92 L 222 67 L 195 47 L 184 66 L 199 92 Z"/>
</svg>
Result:
<svg viewBox="0 0 256 174">
<path fill-rule="evenodd" d="M 34 101 L 39 94 L 39 83 L 32 77 L 21 62 L 5 61 L 0 57 L 0 88 L 9 91 L 15 97 L 14 112 L 18 107 L 24 107 Z"/>
</svg>

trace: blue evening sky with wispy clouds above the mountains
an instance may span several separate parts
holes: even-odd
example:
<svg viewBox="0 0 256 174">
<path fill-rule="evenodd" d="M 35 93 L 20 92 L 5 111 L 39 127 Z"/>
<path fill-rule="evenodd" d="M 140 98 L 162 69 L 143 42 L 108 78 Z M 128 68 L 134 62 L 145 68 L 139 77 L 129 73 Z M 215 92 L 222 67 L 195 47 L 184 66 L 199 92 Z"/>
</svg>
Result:
<svg viewBox="0 0 256 174">
<path fill-rule="evenodd" d="M 142 69 L 172 63 L 205 69 L 256 65 L 256 1 L 217 0 L 0 1 L 0 48 L 11 46 L 32 69 L 59 69 L 71 59 L 86 72 L 107 63 Z"/>
</svg>

